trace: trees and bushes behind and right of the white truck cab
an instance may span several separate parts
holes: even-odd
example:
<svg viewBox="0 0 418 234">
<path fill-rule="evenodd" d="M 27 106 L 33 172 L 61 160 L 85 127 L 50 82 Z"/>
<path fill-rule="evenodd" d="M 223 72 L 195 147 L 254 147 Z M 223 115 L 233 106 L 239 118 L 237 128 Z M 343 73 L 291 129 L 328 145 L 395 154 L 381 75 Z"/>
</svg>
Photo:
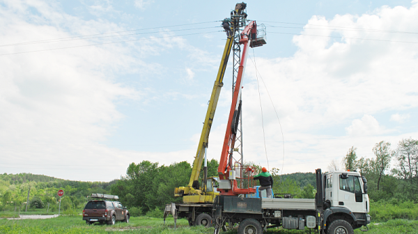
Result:
<svg viewBox="0 0 418 234">
<path fill-rule="evenodd" d="M 373 201 L 396 199 L 418 202 L 418 141 L 402 139 L 396 148 L 380 141 L 372 148 L 374 157 L 357 157 L 357 148 L 348 149 L 341 164 L 331 162 L 328 169 L 360 171 L 366 176 Z M 392 162 L 394 168 L 391 169 Z"/>
</svg>

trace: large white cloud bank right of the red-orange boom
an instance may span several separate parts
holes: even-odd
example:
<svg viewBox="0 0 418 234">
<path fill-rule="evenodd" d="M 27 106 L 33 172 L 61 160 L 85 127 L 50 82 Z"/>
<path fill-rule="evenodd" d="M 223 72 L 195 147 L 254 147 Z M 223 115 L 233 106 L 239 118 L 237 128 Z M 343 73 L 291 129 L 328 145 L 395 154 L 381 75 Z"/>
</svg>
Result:
<svg viewBox="0 0 418 234">
<path fill-rule="evenodd" d="M 287 173 L 325 169 L 351 146 L 359 149 L 358 155 L 371 157 L 371 149 L 379 141 L 396 145 L 405 134 L 418 137 L 416 130 L 385 130 L 373 117 L 418 108 L 418 45 L 378 41 L 416 42 L 416 34 L 389 31 L 413 32 L 417 27 L 417 3 L 411 8 L 382 7 L 369 15 L 336 15 L 332 19 L 314 16 L 302 34 L 315 36 L 294 36 L 298 47 L 294 56 L 256 58 L 284 129 Z M 342 39 L 328 37 L 338 35 Z M 261 108 L 251 61 L 247 62 L 245 82 L 245 157 L 265 165 Z M 269 159 L 270 167 L 281 169 L 279 124 L 261 81 L 260 86 L 266 146 L 274 158 Z M 351 125 L 346 127 L 347 123 Z"/>
</svg>

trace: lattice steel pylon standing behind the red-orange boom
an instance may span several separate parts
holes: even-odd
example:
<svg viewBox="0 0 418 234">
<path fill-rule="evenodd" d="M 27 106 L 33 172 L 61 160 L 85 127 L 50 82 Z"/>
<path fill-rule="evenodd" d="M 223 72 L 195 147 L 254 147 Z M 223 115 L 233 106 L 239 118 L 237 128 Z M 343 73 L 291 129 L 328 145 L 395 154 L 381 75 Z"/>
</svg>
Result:
<svg viewBox="0 0 418 234">
<path fill-rule="evenodd" d="M 231 12 L 231 26 L 233 32 L 233 70 L 232 70 L 232 95 L 235 89 L 235 83 L 237 80 L 238 69 L 240 68 L 241 63 L 241 45 L 240 45 L 240 31 L 245 27 L 245 22 L 247 20 L 247 12 L 244 9 L 242 10 L 233 10 Z M 242 100 L 240 99 L 240 102 Z M 240 111 L 240 118 L 238 122 L 238 131 L 235 137 L 235 153 L 238 153 L 238 157 L 233 157 L 235 162 L 244 164 L 244 154 L 242 152 L 242 111 Z"/>
</svg>

